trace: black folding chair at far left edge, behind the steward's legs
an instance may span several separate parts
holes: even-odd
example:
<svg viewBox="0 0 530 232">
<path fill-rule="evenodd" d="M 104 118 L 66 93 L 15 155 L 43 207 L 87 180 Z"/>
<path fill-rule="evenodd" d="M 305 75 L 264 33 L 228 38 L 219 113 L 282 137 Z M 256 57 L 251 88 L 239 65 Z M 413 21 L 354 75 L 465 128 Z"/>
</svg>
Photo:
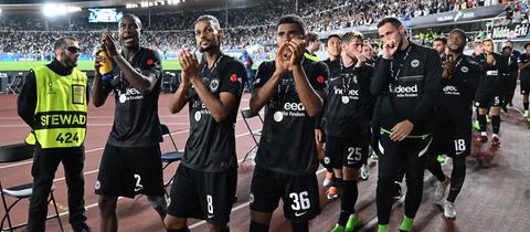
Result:
<svg viewBox="0 0 530 232">
<path fill-rule="evenodd" d="M 30 159 L 33 157 L 33 146 L 26 144 L 15 144 L 15 145 L 7 145 L 0 147 L 0 164 L 2 162 L 17 162 L 25 159 Z M 47 219 L 57 219 L 59 226 L 61 231 L 63 230 L 63 224 L 61 222 L 61 217 L 59 214 L 57 204 L 55 203 L 55 198 L 53 197 L 53 191 L 55 187 L 52 186 L 50 189 L 50 199 L 47 200 L 47 204 L 53 202 L 53 208 L 55 209 L 55 214 L 47 217 Z M 13 231 L 17 228 L 25 226 L 26 223 L 13 225 L 11 222 L 11 217 L 9 212 L 13 207 L 22 199 L 30 199 L 33 191 L 33 183 L 22 183 L 14 187 L 3 188 L 2 182 L 0 180 L 0 194 L 2 197 L 2 204 L 4 210 L 4 215 L 2 218 L 2 222 L 0 224 L 1 231 Z M 14 201 L 8 205 L 7 198 L 12 198 Z M 8 221 L 8 228 L 4 228 L 3 224 Z"/>
</svg>

